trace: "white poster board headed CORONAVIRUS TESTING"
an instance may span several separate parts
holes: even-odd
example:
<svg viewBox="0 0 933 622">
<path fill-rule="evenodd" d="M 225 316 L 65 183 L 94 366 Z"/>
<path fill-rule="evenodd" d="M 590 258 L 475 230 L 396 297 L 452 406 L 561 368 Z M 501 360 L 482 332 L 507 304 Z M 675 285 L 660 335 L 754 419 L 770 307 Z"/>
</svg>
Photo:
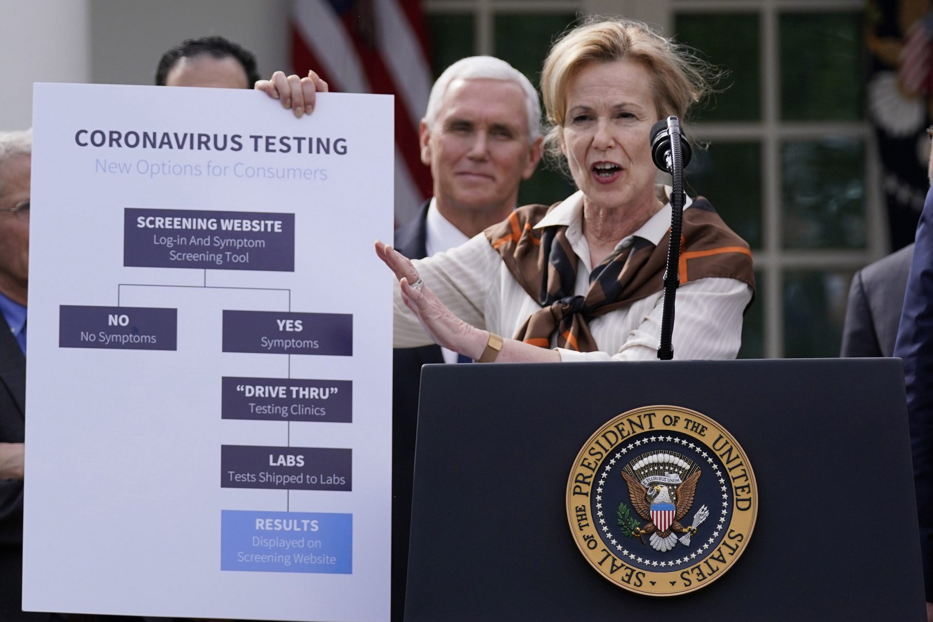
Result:
<svg viewBox="0 0 933 622">
<path fill-rule="evenodd" d="M 23 608 L 388 620 L 393 100 L 35 85 Z"/>
</svg>

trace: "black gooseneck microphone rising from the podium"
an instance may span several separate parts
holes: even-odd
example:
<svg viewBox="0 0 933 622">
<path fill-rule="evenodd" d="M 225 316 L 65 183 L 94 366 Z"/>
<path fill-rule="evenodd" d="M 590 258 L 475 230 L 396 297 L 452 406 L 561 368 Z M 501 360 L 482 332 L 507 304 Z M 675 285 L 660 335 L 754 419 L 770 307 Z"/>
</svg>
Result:
<svg viewBox="0 0 933 622">
<path fill-rule="evenodd" d="M 678 263 L 684 214 L 684 167 L 690 161 L 690 145 L 680 128 L 677 117 L 661 119 L 651 128 L 651 159 L 664 173 L 671 173 L 674 192 L 671 196 L 671 237 L 667 248 L 667 268 L 664 270 L 664 306 L 661 314 L 661 344 L 658 358 L 670 361 L 674 358 L 674 303 L 677 286 L 680 284 Z"/>
</svg>

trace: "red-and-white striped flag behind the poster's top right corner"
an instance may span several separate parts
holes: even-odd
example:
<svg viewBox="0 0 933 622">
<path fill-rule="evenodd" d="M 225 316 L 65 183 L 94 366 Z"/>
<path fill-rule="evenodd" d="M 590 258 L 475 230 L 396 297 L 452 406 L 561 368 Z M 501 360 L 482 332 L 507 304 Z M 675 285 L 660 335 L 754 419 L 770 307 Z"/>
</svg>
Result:
<svg viewBox="0 0 933 622">
<path fill-rule="evenodd" d="M 396 220 L 405 223 L 431 195 L 418 126 L 431 90 L 420 0 L 296 0 L 292 68 L 313 69 L 330 90 L 396 97 Z"/>
</svg>

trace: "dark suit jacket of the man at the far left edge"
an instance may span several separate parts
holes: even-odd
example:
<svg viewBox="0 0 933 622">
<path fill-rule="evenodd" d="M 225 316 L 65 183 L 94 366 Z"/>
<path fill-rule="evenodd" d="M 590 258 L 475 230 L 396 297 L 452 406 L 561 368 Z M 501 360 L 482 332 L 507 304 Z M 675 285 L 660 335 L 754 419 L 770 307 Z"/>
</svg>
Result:
<svg viewBox="0 0 933 622">
<path fill-rule="evenodd" d="M 0 315 L 0 443 L 23 441 L 25 410 L 26 357 Z M 48 619 L 22 613 L 22 482 L 0 480 L 0 620 Z"/>
</svg>

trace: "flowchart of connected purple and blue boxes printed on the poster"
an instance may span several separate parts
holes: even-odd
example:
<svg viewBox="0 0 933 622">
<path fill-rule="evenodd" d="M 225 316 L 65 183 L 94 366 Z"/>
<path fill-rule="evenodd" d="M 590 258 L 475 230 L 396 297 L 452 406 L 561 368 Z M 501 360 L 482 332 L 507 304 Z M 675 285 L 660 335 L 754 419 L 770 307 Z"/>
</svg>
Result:
<svg viewBox="0 0 933 622">
<path fill-rule="evenodd" d="M 295 268 L 295 214 L 124 210 L 124 266 L 204 270 Z M 117 305 L 60 306 L 59 346 L 174 351 L 178 311 L 120 306 L 132 287 L 118 283 Z M 196 287 L 196 286 L 194 286 Z M 257 289 L 230 287 L 222 289 Z M 261 288 L 260 288 L 261 289 Z M 281 291 L 281 290 L 280 290 Z M 287 422 L 284 447 L 224 445 L 220 486 L 291 491 L 352 491 L 353 449 L 292 447 L 292 422 L 353 422 L 353 382 L 292 379 L 292 356 L 352 356 L 353 316 L 340 313 L 223 311 L 223 352 L 288 357 L 288 378 L 223 377 L 221 417 Z M 221 570 L 353 572 L 351 514 L 222 510 Z"/>
</svg>

